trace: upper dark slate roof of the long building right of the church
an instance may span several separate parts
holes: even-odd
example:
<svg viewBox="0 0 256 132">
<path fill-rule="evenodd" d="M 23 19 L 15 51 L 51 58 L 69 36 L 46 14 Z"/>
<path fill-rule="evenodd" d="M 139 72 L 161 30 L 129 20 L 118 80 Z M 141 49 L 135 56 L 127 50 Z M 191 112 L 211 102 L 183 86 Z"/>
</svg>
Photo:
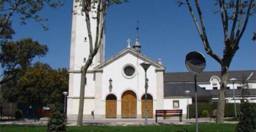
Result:
<svg viewBox="0 0 256 132">
<path fill-rule="evenodd" d="M 229 71 L 228 80 L 231 78 L 237 79 L 237 81 L 242 81 L 243 78 L 249 78 L 248 81 L 255 81 L 255 70 L 246 71 Z M 209 82 L 212 76 L 217 76 L 220 78 L 220 71 L 209 71 L 201 72 L 196 75 L 197 82 Z M 194 75 L 190 72 L 173 72 L 165 73 L 164 82 L 193 82 Z"/>
</svg>

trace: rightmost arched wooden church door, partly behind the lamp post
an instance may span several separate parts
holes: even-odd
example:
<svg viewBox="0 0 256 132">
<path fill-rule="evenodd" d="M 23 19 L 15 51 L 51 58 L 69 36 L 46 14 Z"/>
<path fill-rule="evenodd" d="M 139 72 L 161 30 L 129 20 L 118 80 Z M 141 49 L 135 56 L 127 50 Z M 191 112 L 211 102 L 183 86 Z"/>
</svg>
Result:
<svg viewBox="0 0 256 132">
<path fill-rule="evenodd" d="M 153 97 L 147 94 L 147 112 L 148 118 L 153 118 Z M 145 118 L 145 94 L 141 97 L 141 115 Z"/>
</svg>

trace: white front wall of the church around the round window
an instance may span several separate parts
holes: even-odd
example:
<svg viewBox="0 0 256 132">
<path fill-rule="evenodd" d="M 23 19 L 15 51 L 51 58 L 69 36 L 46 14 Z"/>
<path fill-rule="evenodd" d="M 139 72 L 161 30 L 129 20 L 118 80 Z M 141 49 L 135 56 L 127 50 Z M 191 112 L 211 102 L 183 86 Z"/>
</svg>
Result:
<svg viewBox="0 0 256 132">
<path fill-rule="evenodd" d="M 102 100 L 105 100 L 107 94 L 109 94 L 109 79 L 112 82 L 112 93 L 117 96 L 117 100 L 121 100 L 122 93 L 126 90 L 132 90 L 137 95 L 137 100 L 140 100 L 145 93 L 145 72 L 139 65 L 144 62 L 137 56 L 126 53 L 120 59 L 117 59 L 103 68 L 102 74 Z M 136 76 L 131 79 L 127 79 L 122 75 L 123 66 L 125 64 L 132 64 L 136 68 Z M 156 72 L 155 67 L 150 66 L 147 70 L 147 78 L 149 79 L 148 93 L 152 95 L 153 99 L 157 99 L 156 93 Z"/>
</svg>

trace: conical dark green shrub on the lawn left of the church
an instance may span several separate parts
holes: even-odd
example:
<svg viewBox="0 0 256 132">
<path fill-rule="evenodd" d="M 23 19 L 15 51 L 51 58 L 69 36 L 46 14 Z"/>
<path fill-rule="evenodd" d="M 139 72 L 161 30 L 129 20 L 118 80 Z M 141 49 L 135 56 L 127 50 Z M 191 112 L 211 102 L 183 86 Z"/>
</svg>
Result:
<svg viewBox="0 0 256 132">
<path fill-rule="evenodd" d="M 53 108 L 53 115 L 47 124 L 48 132 L 65 132 L 66 131 L 66 115 L 64 114 L 63 105 L 56 103 Z"/>
</svg>

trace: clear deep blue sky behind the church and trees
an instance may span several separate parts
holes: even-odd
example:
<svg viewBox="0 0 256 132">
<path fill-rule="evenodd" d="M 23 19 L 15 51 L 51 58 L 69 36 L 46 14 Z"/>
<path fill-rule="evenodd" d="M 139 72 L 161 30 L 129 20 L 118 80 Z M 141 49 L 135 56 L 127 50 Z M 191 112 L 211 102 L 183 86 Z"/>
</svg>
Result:
<svg viewBox="0 0 256 132">
<path fill-rule="evenodd" d="M 222 56 L 223 29 L 219 14 L 213 14 L 213 1 L 200 1 L 208 40 L 213 51 Z M 192 3 L 193 4 L 193 3 Z M 18 16 L 13 16 L 16 31 L 13 40 L 32 37 L 47 44 L 46 57 L 35 59 L 50 64 L 53 68 L 69 67 L 72 0 L 65 0 L 58 9 L 44 8 L 40 15 L 47 17 L 49 31 L 34 20 L 20 25 Z M 178 7 L 173 0 L 130 0 L 129 3 L 110 6 L 106 19 L 105 59 L 127 47 L 126 40 L 135 42 L 137 20 L 139 20 L 139 42 L 142 53 L 153 60 L 162 59 L 166 72 L 187 72 L 185 56 L 199 51 L 206 58 L 204 71 L 218 71 L 220 65 L 207 55 L 196 31 L 187 6 Z M 255 31 L 255 15 L 251 16 L 240 41 L 230 70 L 255 70 L 255 42 L 251 40 Z"/>
</svg>

